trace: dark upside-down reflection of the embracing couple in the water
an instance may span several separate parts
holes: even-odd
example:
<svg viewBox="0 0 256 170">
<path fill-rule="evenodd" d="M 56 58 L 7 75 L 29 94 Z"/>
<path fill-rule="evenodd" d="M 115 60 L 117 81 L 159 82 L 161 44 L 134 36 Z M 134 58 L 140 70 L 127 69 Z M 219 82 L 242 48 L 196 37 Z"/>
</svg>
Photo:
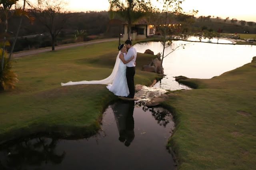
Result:
<svg viewBox="0 0 256 170">
<path fill-rule="evenodd" d="M 135 137 L 133 119 L 134 101 L 119 102 L 112 106 L 112 110 L 119 131 L 119 141 L 128 147 Z"/>
</svg>

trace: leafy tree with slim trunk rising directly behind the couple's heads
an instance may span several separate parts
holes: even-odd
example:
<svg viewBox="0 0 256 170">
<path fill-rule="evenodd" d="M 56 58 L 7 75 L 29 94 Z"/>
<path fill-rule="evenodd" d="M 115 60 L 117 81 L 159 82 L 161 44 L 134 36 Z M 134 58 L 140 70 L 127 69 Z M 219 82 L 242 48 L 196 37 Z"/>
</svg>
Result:
<svg viewBox="0 0 256 170">
<path fill-rule="evenodd" d="M 118 15 L 128 21 L 128 39 L 131 40 L 132 22 L 146 16 L 148 12 L 152 12 L 153 8 L 150 0 L 108 0 L 110 3 L 109 15 L 110 19 L 114 15 Z"/>
</svg>

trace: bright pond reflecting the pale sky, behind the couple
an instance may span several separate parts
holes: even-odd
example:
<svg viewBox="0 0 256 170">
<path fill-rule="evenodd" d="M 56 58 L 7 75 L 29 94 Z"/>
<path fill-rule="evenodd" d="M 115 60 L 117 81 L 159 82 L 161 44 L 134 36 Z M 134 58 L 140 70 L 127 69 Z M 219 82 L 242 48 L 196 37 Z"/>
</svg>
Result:
<svg viewBox="0 0 256 170">
<path fill-rule="evenodd" d="M 170 53 L 180 44 L 186 44 L 185 48 L 179 48 Z M 144 53 L 150 49 L 156 55 L 162 53 L 163 46 L 160 42 L 148 42 L 135 44 L 138 53 Z M 250 63 L 256 56 L 254 45 L 214 44 L 203 42 L 174 41 L 172 47 L 165 49 L 163 68 L 166 76 L 154 86 L 166 90 L 190 89 L 175 81 L 175 76 L 188 78 L 212 78 L 220 74 Z M 146 63 L 145 63 L 146 64 Z"/>
</svg>

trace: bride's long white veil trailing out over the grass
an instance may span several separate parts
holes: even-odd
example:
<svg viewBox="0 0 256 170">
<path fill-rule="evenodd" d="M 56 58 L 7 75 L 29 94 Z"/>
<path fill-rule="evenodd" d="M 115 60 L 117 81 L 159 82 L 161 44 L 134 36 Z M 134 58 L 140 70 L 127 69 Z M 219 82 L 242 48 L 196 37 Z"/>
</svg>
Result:
<svg viewBox="0 0 256 170">
<path fill-rule="evenodd" d="M 120 59 L 119 59 L 119 55 L 120 55 L 120 51 L 118 53 L 118 55 L 116 56 L 116 63 L 115 66 L 113 68 L 112 73 L 110 74 L 110 76 L 108 76 L 107 78 L 103 79 L 103 80 L 92 80 L 92 81 L 80 81 L 80 82 L 67 82 L 67 83 L 61 83 L 62 86 L 70 86 L 70 85 L 77 85 L 77 84 L 111 84 L 116 76 L 116 73 L 118 71 L 118 66 L 120 64 Z"/>
</svg>

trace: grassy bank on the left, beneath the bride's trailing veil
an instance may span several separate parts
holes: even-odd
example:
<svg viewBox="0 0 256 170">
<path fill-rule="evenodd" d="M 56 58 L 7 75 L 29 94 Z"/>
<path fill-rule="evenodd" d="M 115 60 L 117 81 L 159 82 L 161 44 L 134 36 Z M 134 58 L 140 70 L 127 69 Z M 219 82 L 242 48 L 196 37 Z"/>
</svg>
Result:
<svg viewBox="0 0 256 170">
<path fill-rule="evenodd" d="M 106 78 L 114 67 L 117 46 L 113 41 L 16 58 L 19 82 L 14 90 L 0 92 L 0 142 L 38 132 L 75 137 L 95 133 L 104 107 L 117 97 L 106 85 L 60 83 Z M 135 84 L 150 85 L 160 78 L 141 71 L 154 57 L 138 53 Z"/>
</svg>

